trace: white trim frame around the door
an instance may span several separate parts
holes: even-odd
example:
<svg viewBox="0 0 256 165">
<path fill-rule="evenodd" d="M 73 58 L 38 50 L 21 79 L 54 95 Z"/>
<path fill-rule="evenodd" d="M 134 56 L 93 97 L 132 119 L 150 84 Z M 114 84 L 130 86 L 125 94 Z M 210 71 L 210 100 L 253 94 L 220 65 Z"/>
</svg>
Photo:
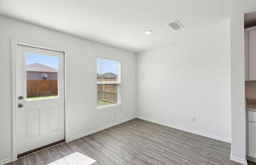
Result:
<svg viewBox="0 0 256 165">
<path fill-rule="evenodd" d="M 40 46 L 40 44 L 31 44 L 35 42 L 20 41 L 11 39 L 12 42 L 12 161 L 17 160 L 18 142 L 17 142 L 17 48 L 18 45 L 42 48 L 45 50 L 58 51 L 64 53 L 64 139 L 67 138 L 67 50 L 63 48 L 53 48 L 51 46 Z"/>
</svg>

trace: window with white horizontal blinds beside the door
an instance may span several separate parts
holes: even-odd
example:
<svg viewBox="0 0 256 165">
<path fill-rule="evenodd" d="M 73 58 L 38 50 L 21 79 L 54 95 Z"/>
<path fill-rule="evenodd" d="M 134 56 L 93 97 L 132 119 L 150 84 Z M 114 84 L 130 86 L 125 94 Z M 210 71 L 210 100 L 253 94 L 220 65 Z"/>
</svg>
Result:
<svg viewBox="0 0 256 165">
<path fill-rule="evenodd" d="M 120 73 L 119 62 L 97 58 L 97 108 L 121 103 Z"/>
</svg>

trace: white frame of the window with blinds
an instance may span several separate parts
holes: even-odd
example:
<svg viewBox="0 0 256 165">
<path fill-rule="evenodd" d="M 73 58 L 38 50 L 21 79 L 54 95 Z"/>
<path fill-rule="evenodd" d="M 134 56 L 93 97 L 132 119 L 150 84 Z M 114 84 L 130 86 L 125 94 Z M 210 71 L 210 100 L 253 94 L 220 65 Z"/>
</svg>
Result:
<svg viewBox="0 0 256 165">
<path fill-rule="evenodd" d="M 96 70 L 97 70 L 97 59 L 98 58 L 118 62 L 117 81 L 103 81 L 103 82 L 99 81 L 98 82 L 96 79 L 97 84 L 117 84 L 117 103 L 113 103 L 111 105 L 106 105 L 106 106 L 99 106 L 99 107 L 97 106 L 97 103 L 96 103 L 96 107 L 97 107 L 97 109 L 104 109 L 104 108 L 119 106 L 119 105 L 121 105 L 121 62 L 117 61 L 116 59 L 111 59 L 111 58 L 107 58 L 107 57 L 96 57 Z M 97 72 L 96 72 L 96 76 L 97 76 Z M 97 98 L 96 98 L 96 101 L 97 101 Z"/>
</svg>

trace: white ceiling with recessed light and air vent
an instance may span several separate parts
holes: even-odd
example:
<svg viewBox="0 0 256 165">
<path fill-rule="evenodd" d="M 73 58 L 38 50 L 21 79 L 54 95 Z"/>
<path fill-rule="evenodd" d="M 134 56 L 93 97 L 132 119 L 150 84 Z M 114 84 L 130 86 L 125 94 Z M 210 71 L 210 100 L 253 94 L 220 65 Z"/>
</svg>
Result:
<svg viewBox="0 0 256 165">
<path fill-rule="evenodd" d="M 0 0 L 1 15 L 133 52 L 188 40 L 253 10 L 256 0 Z M 184 29 L 167 25 L 176 19 Z"/>
</svg>

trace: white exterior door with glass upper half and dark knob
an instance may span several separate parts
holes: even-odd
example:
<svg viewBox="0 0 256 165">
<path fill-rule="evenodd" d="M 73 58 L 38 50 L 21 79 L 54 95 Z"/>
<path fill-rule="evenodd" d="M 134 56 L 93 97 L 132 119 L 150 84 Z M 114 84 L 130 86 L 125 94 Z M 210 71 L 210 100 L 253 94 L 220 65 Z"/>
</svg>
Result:
<svg viewBox="0 0 256 165">
<path fill-rule="evenodd" d="M 18 45 L 18 154 L 64 140 L 64 53 Z"/>
</svg>

